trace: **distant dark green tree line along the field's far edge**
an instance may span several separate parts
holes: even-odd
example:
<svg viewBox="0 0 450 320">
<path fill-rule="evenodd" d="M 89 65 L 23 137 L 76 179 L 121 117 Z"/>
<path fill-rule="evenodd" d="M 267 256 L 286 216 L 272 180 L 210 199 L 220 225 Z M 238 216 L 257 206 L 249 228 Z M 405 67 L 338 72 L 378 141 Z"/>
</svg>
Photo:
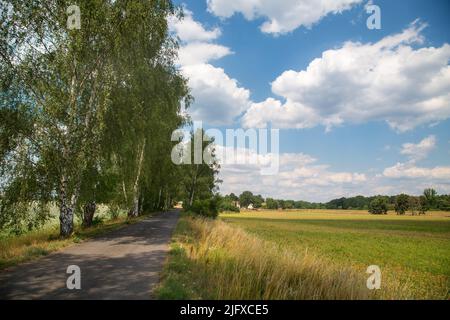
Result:
<svg viewBox="0 0 450 320">
<path fill-rule="evenodd" d="M 244 191 L 240 196 L 234 193 L 224 196 L 224 207 L 228 208 L 238 202 L 246 208 L 250 204 L 256 209 L 342 209 L 342 210 L 368 210 L 374 214 L 384 214 L 389 210 L 395 210 L 398 214 L 411 211 L 413 214 L 424 213 L 429 210 L 450 211 L 450 195 L 438 195 L 434 189 L 424 190 L 421 196 L 400 194 L 397 196 L 356 196 L 351 198 L 334 199 L 326 203 L 307 201 L 280 200 L 273 198 L 264 199 L 261 195 L 254 195 L 250 191 Z M 229 211 L 229 210 L 225 210 Z"/>
</svg>

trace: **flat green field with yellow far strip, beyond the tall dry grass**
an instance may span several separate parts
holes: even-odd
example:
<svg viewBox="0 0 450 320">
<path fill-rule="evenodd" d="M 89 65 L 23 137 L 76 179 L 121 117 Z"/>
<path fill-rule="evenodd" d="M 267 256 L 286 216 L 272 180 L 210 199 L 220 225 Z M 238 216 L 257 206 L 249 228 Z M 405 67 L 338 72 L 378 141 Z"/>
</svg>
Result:
<svg viewBox="0 0 450 320">
<path fill-rule="evenodd" d="M 363 211 L 260 211 L 223 214 L 221 219 L 279 247 L 308 250 L 361 273 L 369 265 L 378 265 L 382 284 L 401 286 L 415 298 L 448 294 L 449 213 L 374 216 Z"/>
</svg>

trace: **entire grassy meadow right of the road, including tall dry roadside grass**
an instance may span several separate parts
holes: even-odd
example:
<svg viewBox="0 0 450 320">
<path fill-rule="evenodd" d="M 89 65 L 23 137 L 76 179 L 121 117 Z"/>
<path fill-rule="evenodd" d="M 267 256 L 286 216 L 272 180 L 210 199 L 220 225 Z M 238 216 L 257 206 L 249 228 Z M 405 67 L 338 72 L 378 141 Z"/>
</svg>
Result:
<svg viewBox="0 0 450 320">
<path fill-rule="evenodd" d="M 162 299 L 448 299 L 450 214 L 250 211 L 183 217 Z M 381 289 L 366 287 L 378 265 Z M 214 284 L 214 285 L 211 285 Z"/>
</svg>

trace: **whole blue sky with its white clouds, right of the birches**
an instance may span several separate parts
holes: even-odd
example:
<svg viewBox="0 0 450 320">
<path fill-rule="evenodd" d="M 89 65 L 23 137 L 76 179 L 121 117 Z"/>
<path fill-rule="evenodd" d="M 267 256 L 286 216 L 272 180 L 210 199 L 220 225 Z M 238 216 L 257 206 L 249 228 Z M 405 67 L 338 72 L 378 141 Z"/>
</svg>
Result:
<svg viewBox="0 0 450 320">
<path fill-rule="evenodd" d="M 281 130 L 280 175 L 224 166 L 222 192 L 310 201 L 450 192 L 449 1 L 176 3 L 186 11 L 172 24 L 193 118 Z M 366 26 L 371 4 L 380 30 Z"/>
</svg>

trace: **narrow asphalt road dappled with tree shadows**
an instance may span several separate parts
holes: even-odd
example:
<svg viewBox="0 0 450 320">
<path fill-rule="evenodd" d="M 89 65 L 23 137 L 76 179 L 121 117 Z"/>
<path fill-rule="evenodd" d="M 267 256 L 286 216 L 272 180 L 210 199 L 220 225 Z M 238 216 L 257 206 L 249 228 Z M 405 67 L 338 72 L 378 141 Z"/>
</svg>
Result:
<svg viewBox="0 0 450 320">
<path fill-rule="evenodd" d="M 178 217 L 159 214 L 4 270 L 0 299 L 151 299 Z M 80 267 L 80 290 L 67 289 L 70 265 Z"/>
</svg>

